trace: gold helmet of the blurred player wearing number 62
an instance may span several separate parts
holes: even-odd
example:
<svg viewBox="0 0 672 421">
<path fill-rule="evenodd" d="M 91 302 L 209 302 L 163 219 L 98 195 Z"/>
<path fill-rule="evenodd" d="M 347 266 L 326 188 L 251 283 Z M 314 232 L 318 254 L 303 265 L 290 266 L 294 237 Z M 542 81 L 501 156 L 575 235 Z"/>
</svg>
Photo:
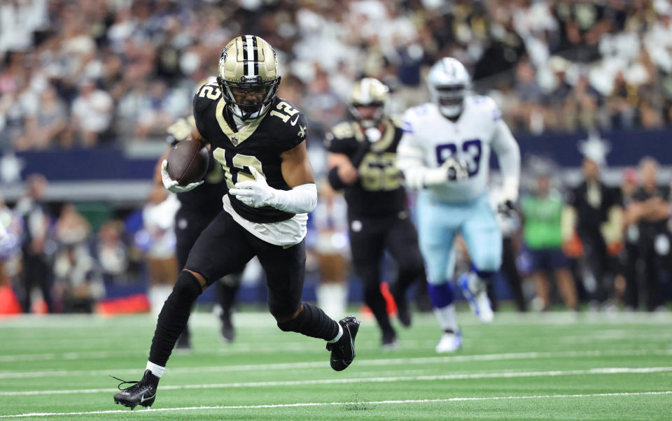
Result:
<svg viewBox="0 0 672 421">
<path fill-rule="evenodd" d="M 363 78 L 353 88 L 348 101 L 352 116 L 368 129 L 376 127 L 382 120 L 387 103 L 389 88 L 380 80 Z"/>
</svg>

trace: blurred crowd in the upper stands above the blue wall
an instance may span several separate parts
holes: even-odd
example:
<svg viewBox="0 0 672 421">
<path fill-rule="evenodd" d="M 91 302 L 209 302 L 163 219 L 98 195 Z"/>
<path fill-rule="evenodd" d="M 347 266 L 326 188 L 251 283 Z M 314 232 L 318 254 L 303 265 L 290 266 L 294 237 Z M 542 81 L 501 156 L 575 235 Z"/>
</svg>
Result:
<svg viewBox="0 0 672 421">
<path fill-rule="evenodd" d="M 453 56 L 514 131 L 663 127 L 672 120 L 668 0 L 10 0 L 0 5 L 0 149 L 162 136 L 223 45 L 258 34 L 315 137 L 353 80 L 426 100 Z M 295 95 L 292 95 L 292 94 Z"/>
</svg>

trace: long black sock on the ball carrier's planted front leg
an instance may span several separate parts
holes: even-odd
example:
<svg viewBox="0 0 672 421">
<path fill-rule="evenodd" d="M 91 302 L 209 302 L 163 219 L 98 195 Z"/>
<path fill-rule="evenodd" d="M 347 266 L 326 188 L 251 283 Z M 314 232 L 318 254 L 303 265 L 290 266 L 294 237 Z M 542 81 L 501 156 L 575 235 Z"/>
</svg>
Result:
<svg viewBox="0 0 672 421">
<path fill-rule="evenodd" d="M 173 292 L 159 313 L 152 348 L 149 351 L 150 362 L 166 366 L 178 336 L 187 325 L 191 307 L 201 292 L 201 284 L 196 277 L 190 272 L 182 271 Z"/>
</svg>

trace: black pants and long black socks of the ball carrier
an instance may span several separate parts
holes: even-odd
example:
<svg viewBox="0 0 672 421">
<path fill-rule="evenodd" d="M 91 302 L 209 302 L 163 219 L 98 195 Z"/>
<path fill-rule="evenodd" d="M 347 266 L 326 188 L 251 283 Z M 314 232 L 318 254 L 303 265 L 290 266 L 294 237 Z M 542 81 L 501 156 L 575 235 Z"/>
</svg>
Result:
<svg viewBox="0 0 672 421">
<path fill-rule="evenodd" d="M 152 339 L 149 361 L 165 366 L 178 336 L 187 324 L 191 306 L 202 291 L 258 257 L 266 274 L 268 304 L 282 331 L 295 331 L 329 341 L 339 324 L 316 306 L 302 303 L 306 262 L 305 241 L 281 246 L 260 240 L 222 211 L 208 225 L 189 252 L 185 269 L 166 300 Z M 193 275 L 207 281 L 202 287 Z"/>
</svg>

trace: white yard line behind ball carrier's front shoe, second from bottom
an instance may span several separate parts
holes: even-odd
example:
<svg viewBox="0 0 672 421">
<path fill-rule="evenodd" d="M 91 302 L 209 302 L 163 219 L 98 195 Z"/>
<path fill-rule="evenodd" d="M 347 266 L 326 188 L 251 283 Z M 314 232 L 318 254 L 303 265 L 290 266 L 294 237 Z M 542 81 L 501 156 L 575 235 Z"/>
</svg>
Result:
<svg viewBox="0 0 672 421">
<path fill-rule="evenodd" d="M 550 376 L 577 376 L 594 374 L 631 374 L 631 373 L 668 373 L 671 367 L 606 367 L 587 370 L 566 371 L 500 371 L 490 373 L 465 373 L 465 374 L 441 374 L 435 376 L 393 376 L 393 377 L 365 377 L 365 378 L 328 378 L 316 380 L 284 380 L 272 382 L 237 382 L 215 383 L 210 385 L 167 385 L 161 390 L 184 390 L 184 389 L 232 389 L 239 387 L 274 387 L 274 386 L 305 386 L 305 385 L 339 385 L 346 383 L 394 383 L 414 382 L 430 380 L 468 380 L 478 378 L 517 378 L 517 377 L 550 377 Z M 0 392 L 0 396 L 34 396 L 44 394 L 92 394 L 117 392 L 117 389 L 78 389 L 78 390 L 27 390 L 23 392 Z"/>
</svg>

